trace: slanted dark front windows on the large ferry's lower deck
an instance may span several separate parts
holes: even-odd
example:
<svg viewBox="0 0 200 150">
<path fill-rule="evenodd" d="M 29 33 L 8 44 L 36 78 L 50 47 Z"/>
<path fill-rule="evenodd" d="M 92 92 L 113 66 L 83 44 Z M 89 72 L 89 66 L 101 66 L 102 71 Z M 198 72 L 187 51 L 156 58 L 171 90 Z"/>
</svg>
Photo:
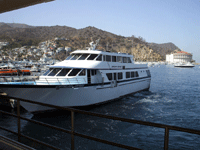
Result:
<svg viewBox="0 0 200 150">
<path fill-rule="evenodd" d="M 85 76 L 85 69 L 50 68 L 43 76 Z"/>
</svg>

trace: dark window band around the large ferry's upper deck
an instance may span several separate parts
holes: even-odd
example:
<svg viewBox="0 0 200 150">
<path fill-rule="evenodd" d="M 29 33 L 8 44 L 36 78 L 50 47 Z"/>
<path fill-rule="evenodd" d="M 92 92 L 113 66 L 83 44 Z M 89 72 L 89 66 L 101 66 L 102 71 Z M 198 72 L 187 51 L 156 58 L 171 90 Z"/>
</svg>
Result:
<svg viewBox="0 0 200 150">
<path fill-rule="evenodd" d="M 110 56 L 102 54 L 72 54 L 66 60 L 95 60 L 107 62 L 132 63 L 130 57 Z"/>
</svg>

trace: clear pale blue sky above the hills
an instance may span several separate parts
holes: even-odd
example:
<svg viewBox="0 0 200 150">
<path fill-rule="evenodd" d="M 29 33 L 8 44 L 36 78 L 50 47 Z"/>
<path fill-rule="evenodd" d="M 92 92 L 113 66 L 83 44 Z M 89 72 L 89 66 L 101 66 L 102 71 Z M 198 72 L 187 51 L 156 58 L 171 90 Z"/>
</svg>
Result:
<svg viewBox="0 0 200 150">
<path fill-rule="evenodd" d="M 146 42 L 172 42 L 200 63 L 200 0 L 55 0 L 0 14 L 0 22 L 94 26 Z"/>
</svg>

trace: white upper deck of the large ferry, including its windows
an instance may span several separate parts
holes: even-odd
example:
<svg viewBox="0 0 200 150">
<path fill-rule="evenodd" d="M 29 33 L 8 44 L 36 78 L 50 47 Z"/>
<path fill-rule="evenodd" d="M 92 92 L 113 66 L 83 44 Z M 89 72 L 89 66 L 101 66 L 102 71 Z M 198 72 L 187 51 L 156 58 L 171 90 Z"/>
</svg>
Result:
<svg viewBox="0 0 200 150">
<path fill-rule="evenodd" d="M 130 69 L 146 68 L 146 65 L 134 64 L 133 56 L 126 53 L 111 53 L 100 50 L 76 50 L 66 60 L 51 68 L 85 69 Z"/>
</svg>

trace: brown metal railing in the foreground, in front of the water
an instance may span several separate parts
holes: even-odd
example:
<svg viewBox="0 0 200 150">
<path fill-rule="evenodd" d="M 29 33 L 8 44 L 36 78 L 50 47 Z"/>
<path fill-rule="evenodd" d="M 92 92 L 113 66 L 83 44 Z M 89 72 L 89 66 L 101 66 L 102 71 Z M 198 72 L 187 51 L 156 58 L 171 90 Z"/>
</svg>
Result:
<svg viewBox="0 0 200 150">
<path fill-rule="evenodd" d="M 62 132 L 71 134 L 71 149 L 72 150 L 75 149 L 74 136 L 79 136 L 79 137 L 82 137 L 82 138 L 94 140 L 94 141 L 101 142 L 101 143 L 104 143 L 104 144 L 117 146 L 117 147 L 124 148 L 124 149 L 139 150 L 139 148 L 135 148 L 135 147 L 132 147 L 132 146 L 119 144 L 119 143 L 116 143 L 116 142 L 111 142 L 111 141 L 107 141 L 107 140 L 104 140 L 104 139 L 99 139 L 99 138 L 96 138 L 96 137 L 92 137 L 92 136 L 88 136 L 88 135 L 84 135 L 84 134 L 75 132 L 75 130 L 74 130 L 75 129 L 75 127 L 74 127 L 74 119 L 75 119 L 74 113 L 75 112 L 76 113 L 80 113 L 80 114 L 85 114 L 85 115 L 91 115 L 91 116 L 106 118 L 106 119 L 118 120 L 118 121 L 122 121 L 122 122 L 128 122 L 128 123 L 151 126 L 151 127 L 157 127 L 157 128 L 163 128 L 163 129 L 165 129 L 164 150 L 168 150 L 169 131 L 170 130 L 175 130 L 175 131 L 181 131 L 181 132 L 187 132 L 187 133 L 200 135 L 200 130 L 194 130 L 194 129 L 182 128 L 182 127 L 177 127 L 177 126 L 164 125 L 164 124 L 160 124 L 160 123 L 152 123 L 152 122 L 147 122 L 147 121 L 139 121 L 139 120 L 134 120 L 134 119 L 127 119 L 127 118 L 109 116 L 109 115 L 103 115 L 103 114 L 98 114 L 98 113 L 93 113 L 93 112 L 88 112 L 88 111 L 83 111 L 83 110 L 78 110 L 78 109 L 73 109 L 73 108 L 64 108 L 64 107 L 60 107 L 60 106 L 45 104 L 45 103 L 41 103 L 41 102 L 34 102 L 34 101 L 30 101 L 30 100 L 25 100 L 25 99 L 20 99 L 20 98 L 15 98 L 15 97 L 9 97 L 9 96 L 3 96 L 3 95 L 0 96 L 0 98 L 17 100 L 17 115 L 11 114 L 11 113 L 8 113 L 8 112 L 2 111 L 2 110 L 0 110 L 0 112 L 18 118 L 18 132 L 14 132 L 14 131 L 8 130 L 6 128 L 3 128 L 3 127 L 0 127 L 0 129 L 18 135 L 18 141 L 19 142 L 21 142 L 21 137 L 25 137 L 25 138 L 27 138 L 29 140 L 32 140 L 33 142 L 37 142 L 39 144 L 42 144 L 44 146 L 47 146 L 49 148 L 56 149 L 56 150 L 58 150 L 59 148 L 57 148 L 55 146 L 52 146 L 52 145 L 49 145 L 47 143 L 41 142 L 39 140 L 33 139 L 33 138 L 28 137 L 26 135 L 21 134 L 20 120 L 23 119 L 23 120 L 26 120 L 26 121 L 30 121 L 32 123 L 36 123 L 36 124 L 39 124 L 39 125 L 42 125 L 42 126 L 45 126 L 45 127 L 49 127 L 49 128 L 52 128 L 52 129 L 56 129 L 58 131 L 62 131 Z M 63 128 L 60 128 L 60 127 L 56 127 L 56 126 L 53 126 L 53 125 L 49 125 L 49 124 L 46 124 L 46 123 L 41 123 L 39 121 L 35 121 L 35 120 L 31 120 L 31 119 L 27 119 L 27 118 L 21 117 L 20 116 L 20 101 L 33 103 L 33 104 L 38 104 L 38 105 L 47 106 L 47 107 L 52 107 L 52 108 L 55 108 L 55 109 L 61 109 L 61 110 L 70 111 L 71 112 L 71 130 L 66 130 L 66 129 L 63 129 Z"/>
</svg>

